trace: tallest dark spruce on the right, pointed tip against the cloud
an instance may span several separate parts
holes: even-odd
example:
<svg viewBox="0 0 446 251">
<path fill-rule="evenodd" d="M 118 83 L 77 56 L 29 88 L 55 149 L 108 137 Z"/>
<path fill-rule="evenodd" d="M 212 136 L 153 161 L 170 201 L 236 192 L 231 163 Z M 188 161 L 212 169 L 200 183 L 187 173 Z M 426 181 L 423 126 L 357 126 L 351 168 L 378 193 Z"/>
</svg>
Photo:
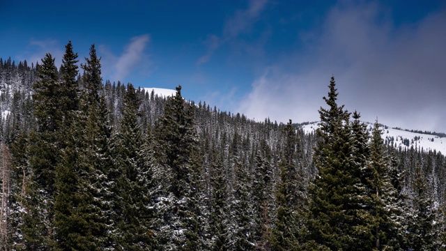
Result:
<svg viewBox="0 0 446 251">
<path fill-rule="evenodd" d="M 352 199 L 360 177 L 352 175 L 355 169 L 349 159 L 352 153 L 349 114 L 336 103 L 333 77 L 329 87 L 328 98 L 324 100 L 330 109 L 319 110 L 321 128 L 316 131 L 320 139 L 314 163 L 319 174 L 309 191 L 310 238 L 332 250 L 353 250 L 356 243 L 350 234 L 355 227 L 356 206 Z"/>
</svg>

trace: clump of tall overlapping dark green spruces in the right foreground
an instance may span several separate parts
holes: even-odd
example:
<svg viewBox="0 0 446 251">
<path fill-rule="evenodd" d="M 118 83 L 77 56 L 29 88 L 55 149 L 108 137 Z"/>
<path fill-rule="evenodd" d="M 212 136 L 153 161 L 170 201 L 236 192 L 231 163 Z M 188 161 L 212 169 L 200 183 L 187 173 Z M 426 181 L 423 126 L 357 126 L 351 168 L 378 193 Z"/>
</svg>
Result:
<svg viewBox="0 0 446 251">
<path fill-rule="evenodd" d="M 332 250 L 397 248 L 397 215 L 401 213 L 392 186 L 378 123 L 369 144 L 367 126 L 360 115 L 336 104 L 334 79 L 330 82 L 330 109 L 319 111 L 320 141 L 314 155 L 319 169 L 310 188 L 310 240 Z"/>
</svg>

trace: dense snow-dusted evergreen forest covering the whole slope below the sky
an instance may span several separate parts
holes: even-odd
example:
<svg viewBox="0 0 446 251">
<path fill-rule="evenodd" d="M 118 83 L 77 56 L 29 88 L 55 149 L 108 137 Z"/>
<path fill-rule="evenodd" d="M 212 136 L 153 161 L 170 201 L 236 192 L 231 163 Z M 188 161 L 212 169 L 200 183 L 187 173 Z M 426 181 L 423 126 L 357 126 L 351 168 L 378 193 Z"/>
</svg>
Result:
<svg viewBox="0 0 446 251">
<path fill-rule="evenodd" d="M 387 146 L 334 78 L 306 134 L 103 82 L 94 45 L 77 58 L 0 60 L 3 250 L 446 248 L 445 156 Z"/>
</svg>

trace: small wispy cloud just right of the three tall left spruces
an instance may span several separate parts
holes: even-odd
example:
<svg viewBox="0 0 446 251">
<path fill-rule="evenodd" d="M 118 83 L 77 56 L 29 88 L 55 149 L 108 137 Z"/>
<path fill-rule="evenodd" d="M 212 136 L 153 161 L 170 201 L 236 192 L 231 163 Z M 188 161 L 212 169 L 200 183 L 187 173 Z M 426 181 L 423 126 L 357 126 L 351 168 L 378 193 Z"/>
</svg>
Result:
<svg viewBox="0 0 446 251">
<path fill-rule="evenodd" d="M 99 48 L 105 58 L 102 62 L 106 78 L 112 79 L 112 81 L 124 81 L 125 77 L 141 64 L 141 61 L 145 61 L 145 67 L 150 66 L 150 62 L 148 62 L 144 53 L 149 42 L 150 36 L 148 34 L 133 37 L 130 39 L 130 43 L 125 45 L 123 53 L 119 56 L 109 52 L 105 45 L 101 45 Z"/>
</svg>

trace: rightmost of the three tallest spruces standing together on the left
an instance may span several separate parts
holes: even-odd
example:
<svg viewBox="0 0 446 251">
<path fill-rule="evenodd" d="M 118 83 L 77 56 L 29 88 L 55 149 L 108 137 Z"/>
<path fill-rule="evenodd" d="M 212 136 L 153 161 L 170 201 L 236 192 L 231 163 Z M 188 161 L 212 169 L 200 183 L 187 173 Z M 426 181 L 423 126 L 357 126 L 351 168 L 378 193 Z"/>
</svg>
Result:
<svg viewBox="0 0 446 251">
<path fill-rule="evenodd" d="M 82 232 L 84 246 L 90 250 L 112 249 L 116 240 L 111 236 L 116 226 L 112 224 L 111 190 L 113 179 L 113 159 L 109 149 L 111 128 L 107 102 L 102 95 L 100 59 L 91 45 L 89 58 L 82 65 L 84 89 L 79 102 L 79 115 L 75 118 L 77 137 L 75 142 L 79 152 L 77 170 L 79 176 L 79 197 L 82 202 L 77 213 L 84 218 L 88 229 Z"/>
</svg>

